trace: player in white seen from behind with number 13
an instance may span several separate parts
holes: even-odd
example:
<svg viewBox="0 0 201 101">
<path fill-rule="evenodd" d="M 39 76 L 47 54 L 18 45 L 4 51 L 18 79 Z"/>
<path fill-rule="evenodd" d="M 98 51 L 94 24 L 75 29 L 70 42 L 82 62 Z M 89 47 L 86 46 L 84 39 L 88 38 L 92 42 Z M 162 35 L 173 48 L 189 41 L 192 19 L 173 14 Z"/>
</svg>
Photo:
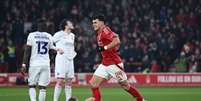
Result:
<svg viewBox="0 0 201 101">
<path fill-rule="evenodd" d="M 38 31 L 32 32 L 27 38 L 22 71 L 29 64 L 29 96 L 31 101 L 36 101 L 36 85 L 39 86 L 39 101 L 45 101 L 46 86 L 50 81 L 50 59 L 49 50 L 53 49 L 63 53 L 53 45 L 52 36 L 44 32 L 46 24 L 44 20 L 38 22 Z"/>
</svg>

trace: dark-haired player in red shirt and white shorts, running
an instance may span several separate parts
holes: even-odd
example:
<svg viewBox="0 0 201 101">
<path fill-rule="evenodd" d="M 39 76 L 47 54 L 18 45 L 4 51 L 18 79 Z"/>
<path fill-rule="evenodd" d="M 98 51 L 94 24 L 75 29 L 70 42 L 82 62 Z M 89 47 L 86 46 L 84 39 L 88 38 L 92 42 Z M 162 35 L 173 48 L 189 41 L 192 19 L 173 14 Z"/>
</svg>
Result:
<svg viewBox="0 0 201 101">
<path fill-rule="evenodd" d="M 113 77 L 137 101 L 144 101 L 136 87 L 128 83 L 122 59 L 117 52 L 120 45 L 119 36 L 105 25 L 105 17 L 102 14 L 93 16 L 92 24 L 97 33 L 98 50 L 102 55 L 102 63 L 98 66 L 90 80 L 93 97 L 89 99 L 101 101 L 99 87 L 103 81 Z M 90 101 L 89 99 L 86 101 Z"/>
</svg>

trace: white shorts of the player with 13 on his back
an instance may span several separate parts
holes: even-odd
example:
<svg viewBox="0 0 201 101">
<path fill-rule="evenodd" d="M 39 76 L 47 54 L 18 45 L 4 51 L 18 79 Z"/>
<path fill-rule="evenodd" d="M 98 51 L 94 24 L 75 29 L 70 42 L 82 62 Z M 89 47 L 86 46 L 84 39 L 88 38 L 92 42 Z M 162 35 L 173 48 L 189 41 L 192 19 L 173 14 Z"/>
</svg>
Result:
<svg viewBox="0 0 201 101">
<path fill-rule="evenodd" d="M 29 85 L 47 86 L 50 82 L 50 67 L 30 67 L 28 82 Z"/>
</svg>

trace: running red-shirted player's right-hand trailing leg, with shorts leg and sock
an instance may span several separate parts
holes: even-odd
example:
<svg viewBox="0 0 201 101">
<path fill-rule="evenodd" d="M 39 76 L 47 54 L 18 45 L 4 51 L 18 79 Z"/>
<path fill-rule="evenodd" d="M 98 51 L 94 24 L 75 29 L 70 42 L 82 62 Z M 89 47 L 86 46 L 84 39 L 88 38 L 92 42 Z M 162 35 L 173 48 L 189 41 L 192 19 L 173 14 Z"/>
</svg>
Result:
<svg viewBox="0 0 201 101">
<path fill-rule="evenodd" d="M 123 64 L 118 64 L 120 67 L 123 68 Z M 118 68 L 118 66 L 116 65 L 111 65 L 107 71 L 110 73 L 110 75 L 112 77 L 114 77 L 119 84 L 121 85 L 121 87 L 126 90 L 128 93 L 130 93 L 133 97 L 135 97 L 137 99 L 137 101 L 142 101 L 143 97 L 142 95 L 139 93 L 139 91 L 134 87 L 131 86 L 128 83 L 127 80 L 127 76 L 126 73 L 124 71 L 122 71 L 121 69 Z"/>
</svg>

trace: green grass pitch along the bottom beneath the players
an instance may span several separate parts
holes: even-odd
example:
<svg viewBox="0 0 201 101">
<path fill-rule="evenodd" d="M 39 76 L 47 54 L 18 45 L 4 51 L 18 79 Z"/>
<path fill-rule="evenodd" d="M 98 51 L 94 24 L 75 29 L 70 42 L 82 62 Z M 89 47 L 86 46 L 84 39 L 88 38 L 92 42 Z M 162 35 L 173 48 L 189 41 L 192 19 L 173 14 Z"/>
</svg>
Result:
<svg viewBox="0 0 201 101">
<path fill-rule="evenodd" d="M 148 101 L 201 101 L 201 87 L 139 88 Z M 47 100 L 53 101 L 53 88 L 47 89 Z M 101 88 L 103 101 L 135 101 L 120 88 Z M 73 95 L 84 101 L 91 95 L 89 88 L 73 88 Z M 0 88 L 0 101 L 29 101 L 27 88 Z M 60 101 L 65 101 L 64 90 Z"/>
</svg>

